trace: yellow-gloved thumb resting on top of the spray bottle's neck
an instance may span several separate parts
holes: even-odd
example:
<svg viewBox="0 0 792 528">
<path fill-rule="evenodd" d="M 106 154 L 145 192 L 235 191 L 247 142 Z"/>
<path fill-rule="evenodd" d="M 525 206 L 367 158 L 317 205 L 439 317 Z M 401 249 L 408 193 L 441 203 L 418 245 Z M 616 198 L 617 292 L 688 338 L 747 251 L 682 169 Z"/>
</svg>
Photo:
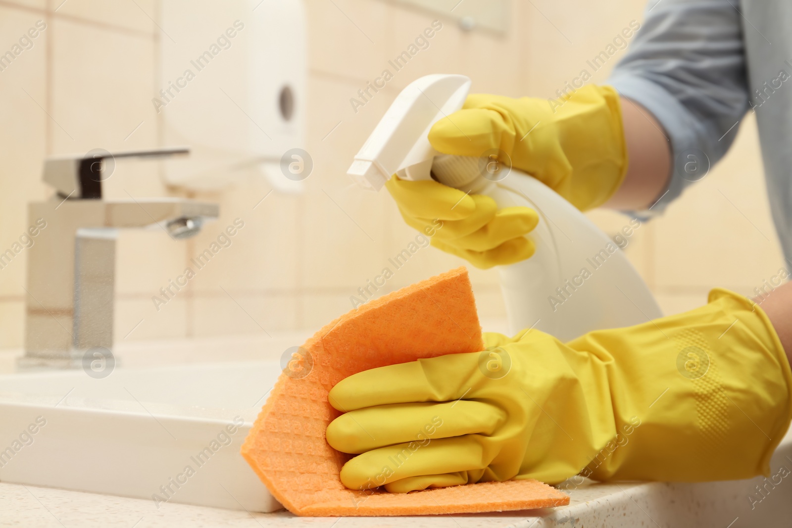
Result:
<svg viewBox="0 0 792 528">
<path fill-rule="evenodd" d="M 514 135 L 514 129 L 500 112 L 489 108 L 463 108 L 433 124 L 428 139 L 444 154 L 478 158 L 493 149 L 510 153 Z"/>
</svg>

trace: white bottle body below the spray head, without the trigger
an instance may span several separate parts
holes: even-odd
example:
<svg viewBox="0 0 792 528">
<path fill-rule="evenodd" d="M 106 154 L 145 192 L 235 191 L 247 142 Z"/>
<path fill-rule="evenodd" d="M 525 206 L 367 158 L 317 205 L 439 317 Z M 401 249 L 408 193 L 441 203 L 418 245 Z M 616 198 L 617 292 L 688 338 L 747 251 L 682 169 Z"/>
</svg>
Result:
<svg viewBox="0 0 792 528">
<path fill-rule="evenodd" d="M 480 173 L 463 184 L 432 173 L 440 183 L 491 196 L 499 208 L 531 207 L 539 223 L 527 237 L 531 258 L 497 268 L 509 330 L 535 328 L 561 340 L 597 329 L 662 317 L 652 293 L 622 249 L 581 211 L 539 180 L 512 169 L 493 181 Z M 638 224 L 640 225 L 640 224 Z M 626 219 L 626 226 L 630 220 Z"/>
</svg>

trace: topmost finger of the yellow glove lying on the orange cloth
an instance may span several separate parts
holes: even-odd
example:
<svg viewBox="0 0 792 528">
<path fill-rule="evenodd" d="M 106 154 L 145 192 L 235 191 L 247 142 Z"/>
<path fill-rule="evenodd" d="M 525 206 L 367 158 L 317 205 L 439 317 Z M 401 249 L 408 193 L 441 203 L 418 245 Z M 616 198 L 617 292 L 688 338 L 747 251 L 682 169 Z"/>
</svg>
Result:
<svg viewBox="0 0 792 528">
<path fill-rule="evenodd" d="M 478 373 L 478 353 L 448 354 L 364 370 L 338 382 L 328 398 L 330 405 L 341 412 L 377 405 L 459 400 L 470 390 L 471 376 L 449 376 L 449 372 Z M 472 392 L 467 396 L 472 397 Z"/>
</svg>

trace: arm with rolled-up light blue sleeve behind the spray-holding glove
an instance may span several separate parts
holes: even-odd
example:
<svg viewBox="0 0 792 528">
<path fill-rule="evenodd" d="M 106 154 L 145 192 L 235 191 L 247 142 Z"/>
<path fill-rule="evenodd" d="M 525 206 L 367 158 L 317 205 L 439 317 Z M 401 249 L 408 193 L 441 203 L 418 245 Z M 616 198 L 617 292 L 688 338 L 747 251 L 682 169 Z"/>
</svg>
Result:
<svg viewBox="0 0 792 528">
<path fill-rule="evenodd" d="M 663 0 L 649 6 L 607 80 L 622 97 L 629 164 L 606 207 L 661 212 L 729 150 L 748 110 L 737 3 Z M 689 161 L 694 173 L 684 172 Z"/>
</svg>

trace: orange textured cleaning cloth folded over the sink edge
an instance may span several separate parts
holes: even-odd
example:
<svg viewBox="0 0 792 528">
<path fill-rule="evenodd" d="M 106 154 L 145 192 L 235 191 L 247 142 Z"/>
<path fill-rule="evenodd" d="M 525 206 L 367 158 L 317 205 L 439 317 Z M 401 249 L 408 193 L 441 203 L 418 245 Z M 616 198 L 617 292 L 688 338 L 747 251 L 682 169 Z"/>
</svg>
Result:
<svg viewBox="0 0 792 528">
<path fill-rule="evenodd" d="M 352 455 L 334 450 L 325 439 L 328 424 L 341 414 L 327 399 L 337 382 L 375 367 L 483 349 L 465 268 L 367 302 L 303 344 L 303 355 L 310 354 L 303 367 L 310 371 L 280 374 L 242 456 L 272 496 L 296 515 L 428 515 L 569 504 L 569 496 L 532 480 L 406 494 L 355 491 L 341 484 L 338 473 Z"/>
</svg>

